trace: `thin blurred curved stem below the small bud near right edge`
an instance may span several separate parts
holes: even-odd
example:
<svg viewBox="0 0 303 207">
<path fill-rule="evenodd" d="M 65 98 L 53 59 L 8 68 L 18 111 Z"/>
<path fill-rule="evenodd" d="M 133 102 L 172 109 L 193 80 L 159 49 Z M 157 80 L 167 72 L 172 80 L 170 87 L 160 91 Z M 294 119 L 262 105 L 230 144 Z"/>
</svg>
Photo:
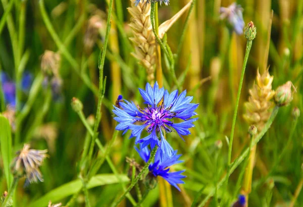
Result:
<svg viewBox="0 0 303 207">
<path fill-rule="evenodd" d="M 298 123 L 298 119 L 293 120 L 293 123 L 291 124 L 291 129 L 290 129 L 290 133 L 287 139 L 286 144 L 284 145 L 284 148 L 282 149 L 282 152 L 279 154 L 278 159 L 274 162 L 273 167 L 271 168 L 271 170 L 269 171 L 269 173 L 263 177 L 260 181 L 258 181 L 256 183 L 256 185 L 254 186 L 255 188 L 258 187 L 259 185 L 263 184 L 272 174 L 273 172 L 276 170 L 277 166 L 279 165 L 279 163 L 281 162 L 282 158 L 284 157 L 294 134 L 296 125 Z"/>
</svg>

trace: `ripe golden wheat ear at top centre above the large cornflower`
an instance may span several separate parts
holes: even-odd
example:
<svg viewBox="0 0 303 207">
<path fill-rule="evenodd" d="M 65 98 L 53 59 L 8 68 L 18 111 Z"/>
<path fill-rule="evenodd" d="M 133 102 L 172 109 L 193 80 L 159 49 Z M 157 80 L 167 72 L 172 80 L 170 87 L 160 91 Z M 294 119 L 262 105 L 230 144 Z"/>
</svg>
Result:
<svg viewBox="0 0 303 207">
<path fill-rule="evenodd" d="M 156 42 L 150 22 L 150 4 L 140 1 L 135 6 L 135 0 L 130 1 L 132 5 L 127 8 L 132 16 L 129 26 L 134 34 L 130 40 L 135 45 L 135 52 L 132 55 L 146 69 L 147 81 L 153 84 L 155 81 Z"/>
</svg>

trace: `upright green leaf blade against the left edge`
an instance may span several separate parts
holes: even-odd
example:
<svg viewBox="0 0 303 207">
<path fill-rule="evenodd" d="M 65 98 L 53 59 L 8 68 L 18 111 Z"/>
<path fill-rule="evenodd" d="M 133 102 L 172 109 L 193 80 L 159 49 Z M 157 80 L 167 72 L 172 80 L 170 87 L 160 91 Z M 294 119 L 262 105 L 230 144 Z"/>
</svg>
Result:
<svg viewBox="0 0 303 207">
<path fill-rule="evenodd" d="M 11 186 L 13 175 L 10 173 L 10 163 L 12 161 L 12 134 L 11 126 L 7 118 L 0 115 L 0 145 L 3 160 L 4 174 L 7 185 Z"/>
</svg>

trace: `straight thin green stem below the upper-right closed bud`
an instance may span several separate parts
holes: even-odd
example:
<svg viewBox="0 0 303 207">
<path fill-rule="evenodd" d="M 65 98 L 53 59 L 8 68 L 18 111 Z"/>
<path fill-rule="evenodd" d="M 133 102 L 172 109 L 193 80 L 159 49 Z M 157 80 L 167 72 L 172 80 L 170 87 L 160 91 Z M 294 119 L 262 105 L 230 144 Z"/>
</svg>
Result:
<svg viewBox="0 0 303 207">
<path fill-rule="evenodd" d="M 237 95 L 237 101 L 236 101 L 236 108 L 235 108 L 234 115 L 233 115 L 231 134 L 230 134 L 230 140 L 229 140 L 229 146 L 228 146 L 228 162 L 227 162 L 227 164 L 228 164 L 227 174 L 228 175 L 229 175 L 230 167 L 231 167 L 232 143 L 233 143 L 233 137 L 234 137 L 234 132 L 235 132 L 235 126 L 236 126 L 236 119 L 237 119 L 237 113 L 238 113 L 238 107 L 239 107 L 241 89 L 242 89 L 242 84 L 243 84 L 243 79 L 244 79 L 244 73 L 245 73 L 245 68 L 246 68 L 246 64 L 247 64 L 247 60 L 248 60 L 251 44 L 252 44 L 252 40 L 247 40 L 245 57 L 244 57 L 244 63 L 243 63 L 243 67 L 242 67 L 241 79 L 240 79 L 240 84 L 239 84 L 239 89 L 238 89 L 238 95 Z M 225 183 L 226 188 L 227 188 L 227 184 L 228 184 L 228 178 L 229 177 L 227 177 L 227 179 L 225 181 L 226 182 Z M 223 193 L 223 195 L 224 195 L 224 193 Z"/>
</svg>

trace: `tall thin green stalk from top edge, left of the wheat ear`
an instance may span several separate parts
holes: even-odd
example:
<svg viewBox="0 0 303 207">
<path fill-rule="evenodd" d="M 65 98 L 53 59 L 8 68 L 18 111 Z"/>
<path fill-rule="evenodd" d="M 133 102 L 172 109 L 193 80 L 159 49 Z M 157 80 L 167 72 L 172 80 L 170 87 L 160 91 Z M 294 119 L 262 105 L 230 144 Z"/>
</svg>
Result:
<svg viewBox="0 0 303 207">
<path fill-rule="evenodd" d="M 97 111 L 96 111 L 96 118 L 95 118 L 95 123 L 93 127 L 93 136 L 91 140 L 91 145 L 89 148 L 89 154 L 88 158 L 91 159 L 92 156 L 92 151 L 94 147 L 94 142 L 95 139 L 97 138 L 97 130 L 100 124 L 100 119 L 101 119 L 101 106 L 102 106 L 102 99 L 104 97 L 104 92 L 105 92 L 105 85 L 103 84 L 103 69 L 104 69 L 104 63 L 105 63 L 105 55 L 106 55 L 106 50 L 107 50 L 107 44 L 109 41 L 109 34 L 111 30 L 111 14 L 112 14 L 112 9 L 113 9 L 113 0 L 110 0 L 109 4 L 109 12 L 108 12 L 108 19 L 107 19 L 107 24 L 106 24 L 106 33 L 105 33 L 105 39 L 104 39 L 104 44 L 103 44 L 103 50 L 101 51 L 100 59 L 99 59 L 99 89 L 98 89 L 98 103 L 97 103 Z"/>
</svg>

